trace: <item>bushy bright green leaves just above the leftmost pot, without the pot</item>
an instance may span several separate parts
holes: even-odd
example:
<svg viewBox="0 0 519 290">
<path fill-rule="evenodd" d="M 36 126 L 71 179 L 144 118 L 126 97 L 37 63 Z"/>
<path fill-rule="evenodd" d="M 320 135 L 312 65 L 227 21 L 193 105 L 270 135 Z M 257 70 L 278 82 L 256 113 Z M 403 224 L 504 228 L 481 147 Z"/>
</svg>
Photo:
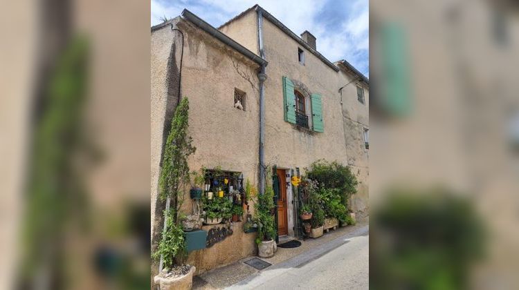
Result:
<svg viewBox="0 0 519 290">
<path fill-rule="evenodd" d="M 172 210 L 164 211 L 166 229 L 162 233 L 162 240 L 156 251 L 152 254 L 152 258 L 156 260 L 163 255 L 164 267 L 167 269 L 171 269 L 174 264 L 183 264 L 187 254 L 185 235 L 182 227 L 174 222 L 174 215 L 175 213 Z"/>
</svg>

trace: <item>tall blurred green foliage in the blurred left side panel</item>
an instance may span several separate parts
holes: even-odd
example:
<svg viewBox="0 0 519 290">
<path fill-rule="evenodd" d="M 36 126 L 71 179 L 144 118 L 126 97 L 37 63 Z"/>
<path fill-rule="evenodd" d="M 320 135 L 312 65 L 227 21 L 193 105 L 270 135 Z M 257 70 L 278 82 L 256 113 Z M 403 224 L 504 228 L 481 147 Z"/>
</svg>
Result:
<svg viewBox="0 0 519 290">
<path fill-rule="evenodd" d="M 78 166 L 79 152 L 86 145 L 81 124 L 88 64 L 89 41 L 73 37 L 48 77 L 42 99 L 36 100 L 26 190 L 22 284 L 37 279 L 43 269 L 48 273 L 48 284 L 39 286 L 56 289 L 64 283 L 64 254 L 58 250 L 64 247 L 65 227 L 73 222 L 84 224 L 89 208 Z"/>
</svg>

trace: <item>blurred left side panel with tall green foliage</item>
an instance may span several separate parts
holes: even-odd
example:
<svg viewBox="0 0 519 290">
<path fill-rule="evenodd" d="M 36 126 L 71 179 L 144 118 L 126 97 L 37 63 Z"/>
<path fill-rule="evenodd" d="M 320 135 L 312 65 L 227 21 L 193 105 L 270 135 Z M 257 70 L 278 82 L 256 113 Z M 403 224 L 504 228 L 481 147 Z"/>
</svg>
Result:
<svg viewBox="0 0 519 290">
<path fill-rule="evenodd" d="M 3 3 L 1 289 L 149 287 L 149 3 Z"/>
</svg>

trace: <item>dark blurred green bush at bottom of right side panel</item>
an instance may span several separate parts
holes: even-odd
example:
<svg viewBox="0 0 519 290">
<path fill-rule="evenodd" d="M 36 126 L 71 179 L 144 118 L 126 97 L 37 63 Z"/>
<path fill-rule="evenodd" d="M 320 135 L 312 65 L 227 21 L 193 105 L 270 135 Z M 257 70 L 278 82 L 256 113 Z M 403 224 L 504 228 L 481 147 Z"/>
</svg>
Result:
<svg viewBox="0 0 519 290">
<path fill-rule="evenodd" d="M 467 287 L 486 240 L 470 200 L 442 189 L 395 190 L 372 217 L 372 289 Z"/>
</svg>

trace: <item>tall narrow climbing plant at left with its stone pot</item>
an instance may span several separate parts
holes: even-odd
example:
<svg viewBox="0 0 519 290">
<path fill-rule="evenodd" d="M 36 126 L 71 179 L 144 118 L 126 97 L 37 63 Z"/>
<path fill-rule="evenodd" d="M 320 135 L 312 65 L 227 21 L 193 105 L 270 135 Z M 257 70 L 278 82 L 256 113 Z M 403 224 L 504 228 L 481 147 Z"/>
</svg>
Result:
<svg viewBox="0 0 519 290">
<path fill-rule="evenodd" d="M 188 157 L 196 148 L 192 146 L 191 137 L 188 137 L 188 111 L 189 101 L 183 98 L 177 106 L 170 132 L 167 135 L 164 147 L 163 166 L 158 180 L 159 196 L 165 201 L 165 208 L 171 209 L 164 212 L 164 230 L 161 233 L 153 258 L 160 260 L 159 273 L 154 277 L 154 282 L 159 284 L 162 290 L 190 289 L 192 287 L 194 266 L 183 264 L 186 244 L 185 234 L 179 220 L 179 210 L 183 197 L 181 190 L 190 181 Z"/>
</svg>

